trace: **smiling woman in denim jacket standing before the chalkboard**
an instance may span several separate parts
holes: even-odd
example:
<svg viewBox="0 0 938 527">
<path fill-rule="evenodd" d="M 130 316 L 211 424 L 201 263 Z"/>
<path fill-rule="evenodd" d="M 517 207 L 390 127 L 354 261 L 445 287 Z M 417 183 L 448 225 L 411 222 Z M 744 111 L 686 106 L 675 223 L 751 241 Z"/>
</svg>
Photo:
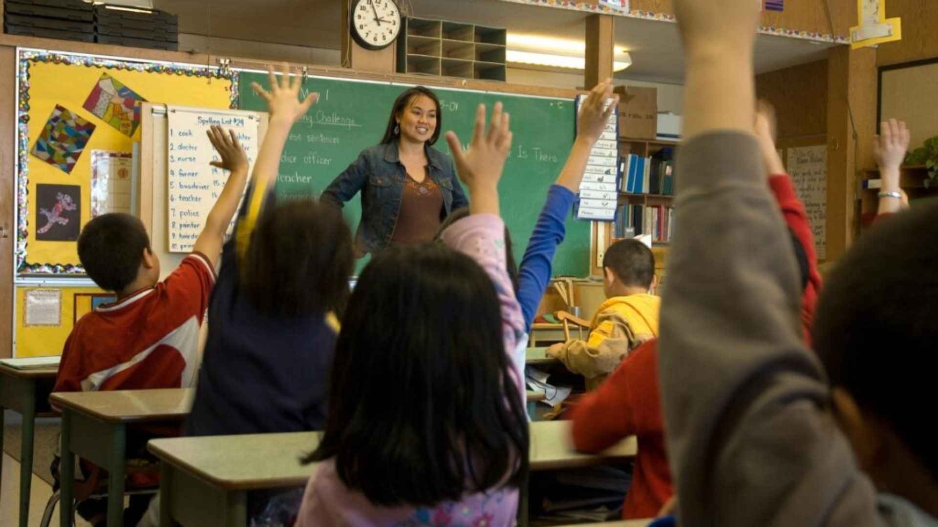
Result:
<svg viewBox="0 0 938 527">
<path fill-rule="evenodd" d="M 325 203 L 341 208 L 361 191 L 359 258 L 391 243 L 431 241 L 443 219 L 469 203 L 452 159 L 432 147 L 442 125 L 440 100 L 430 89 L 405 90 L 381 143 L 363 150 L 323 192 Z"/>
</svg>

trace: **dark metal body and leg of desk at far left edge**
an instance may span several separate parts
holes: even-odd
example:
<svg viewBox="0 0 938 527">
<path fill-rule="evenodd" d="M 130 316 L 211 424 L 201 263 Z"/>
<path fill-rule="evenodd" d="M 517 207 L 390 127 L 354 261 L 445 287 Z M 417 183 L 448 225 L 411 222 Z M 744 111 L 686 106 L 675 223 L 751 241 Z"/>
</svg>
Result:
<svg viewBox="0 0 938 527">
<path fill-rule="evenodd" d="M 29 519 L 29 492 L 33 478 L 33 433 L 36 414 L 49 412 L 49 394 L 55 384 L 56 368 L 16 369 L 0 364 L 0 470 L 3 470 L 4 409 L 23 415 L 20 445 L 20 525 Z"/>
</svg>

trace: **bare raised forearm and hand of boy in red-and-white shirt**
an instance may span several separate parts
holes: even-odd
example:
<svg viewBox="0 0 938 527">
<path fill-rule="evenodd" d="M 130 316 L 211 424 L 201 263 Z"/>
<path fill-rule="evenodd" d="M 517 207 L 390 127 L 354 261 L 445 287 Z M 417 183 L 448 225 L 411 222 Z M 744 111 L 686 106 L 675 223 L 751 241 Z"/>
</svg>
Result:
<svg viewBox="0 0 938 527">
<path fill-rule="evenodd" d="M 193 252 L 200 252 L 213 267 L 218 263 L 221 245 L 231 223 L 237 203 L 241 200 L 244 184 L 248 180 L 248 155 L 238 143 L 234 130 L 226 133 L 220 127 L 213 126 L 207 132 L 208 140 L 219 152 L 220 161 L 212 161 L 212 166 L 230 171 L 225 187 L 221 189 L 218 201 L 212 205 L 202 233 L 192 246 Z"/>
</svg>

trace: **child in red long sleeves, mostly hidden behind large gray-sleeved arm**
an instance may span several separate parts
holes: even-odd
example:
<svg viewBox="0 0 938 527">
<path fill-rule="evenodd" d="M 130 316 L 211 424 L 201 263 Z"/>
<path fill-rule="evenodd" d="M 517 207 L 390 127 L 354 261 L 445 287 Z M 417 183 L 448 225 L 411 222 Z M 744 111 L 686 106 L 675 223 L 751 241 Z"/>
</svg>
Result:
<svg viewBox="0 0 938 527">
<path fill-rule="evenodd" d="M 768 186 L 772 189 L 792 236 L 801 267 L 801 320 L 804 339 L 814 319 L 814 304 L 821 288 L 814 240 L 805 207 L 794 193 L 774 139 L 774 110 L 760 101 L 755 132 L 763 152 Z M 634 435 L 638 454 L 632 485 L 622 507 L 623 519 L 653 518 L 674 493 L 658 389 L 658 339 L 636 348 L 612 375 L 573 408 L 573 444 L 577 450 L 598 452 Z"/>
</svg>

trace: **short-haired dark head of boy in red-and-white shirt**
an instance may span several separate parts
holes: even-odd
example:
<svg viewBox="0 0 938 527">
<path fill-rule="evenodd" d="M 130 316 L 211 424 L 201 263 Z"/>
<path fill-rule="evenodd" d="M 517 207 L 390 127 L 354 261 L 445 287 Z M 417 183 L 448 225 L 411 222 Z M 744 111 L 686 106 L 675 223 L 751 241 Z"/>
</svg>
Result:
<svg viewBox="0 0 938 527">
<path fill-rule="evenodd" d="M 140 218 L 103 214 L 89 221 L 78 237 L 78 258 L 84 272 L 105 291 L 121 292 L 140 272 L 150 236 Z"/>
</svg>

